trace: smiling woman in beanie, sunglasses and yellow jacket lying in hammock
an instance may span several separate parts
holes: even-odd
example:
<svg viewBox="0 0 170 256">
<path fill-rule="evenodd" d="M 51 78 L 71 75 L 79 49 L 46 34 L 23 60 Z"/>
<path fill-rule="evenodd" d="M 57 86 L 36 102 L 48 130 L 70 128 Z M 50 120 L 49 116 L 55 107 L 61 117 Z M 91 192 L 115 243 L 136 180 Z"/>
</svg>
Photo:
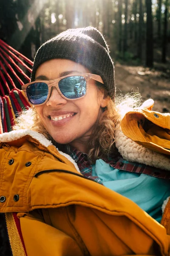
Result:
<svg viewBox="0 0 170 256">
<path fill-rule="evenodd" d="M 70 29 L 47 41 L 23 90 L 33 107 L 0 137 L 0 211 L 17 212 L 26 247 L 10 236 L 13 252 L 169 255 L 159 224 L 169 179 L 115 146 L 114 66 L 101 33 Z"/>
</svg>

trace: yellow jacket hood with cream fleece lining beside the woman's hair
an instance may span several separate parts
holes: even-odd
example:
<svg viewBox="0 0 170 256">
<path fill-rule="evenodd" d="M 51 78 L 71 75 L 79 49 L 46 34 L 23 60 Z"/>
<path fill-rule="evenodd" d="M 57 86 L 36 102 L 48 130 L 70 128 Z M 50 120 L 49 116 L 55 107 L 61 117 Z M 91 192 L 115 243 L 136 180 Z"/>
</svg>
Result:
<svg viewBox="0 0 170 256">
<path fill-rule="evenodd" d="M 170 171 L 170 113 L 151 111 L 153 99 L 122 115 L 115 143 L 125 160 Z"/>
</svg>

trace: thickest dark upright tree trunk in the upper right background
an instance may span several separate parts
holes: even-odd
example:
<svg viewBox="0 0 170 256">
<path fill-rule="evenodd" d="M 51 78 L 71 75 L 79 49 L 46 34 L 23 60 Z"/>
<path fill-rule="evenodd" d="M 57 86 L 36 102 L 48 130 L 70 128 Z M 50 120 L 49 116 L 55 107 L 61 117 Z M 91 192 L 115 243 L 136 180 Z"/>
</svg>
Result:
<svg viewBox="0 0 170 256">
<path fill-rule="evenodd" d="M 153 67 L 153 20 L 152 0 L 145 0 L 147 22 L 146 22 L 146 66 Z"/>
</svg>

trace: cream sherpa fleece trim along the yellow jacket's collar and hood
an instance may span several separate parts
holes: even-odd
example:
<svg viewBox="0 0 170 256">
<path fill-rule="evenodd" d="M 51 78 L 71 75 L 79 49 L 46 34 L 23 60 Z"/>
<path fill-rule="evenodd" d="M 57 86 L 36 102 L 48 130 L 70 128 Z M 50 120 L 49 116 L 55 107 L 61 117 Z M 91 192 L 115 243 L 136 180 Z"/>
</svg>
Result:
<svg viewBox="0 0 170 256">
<path fill-rule="evenodd" d="M 37 140 L 41 145 L 45 147 L 53 145 L 50 140 L 45 138 L 44 135 L 36 131 L 26 129 L 0 134 L 0 142 L 8 143 L 11 141 L 19 140 L 20 138 L 27 135 L 31 136 L 34 140 Z M 125 160 L 144 163 L 149 166 L 170 171 L 170 159 L 168 157 L 151 151 L 150 149 L 145 148 L 138 143 L 135 143 L 133 140 L 123 134 L 121 128 L 116 130 L 115 143 L 119 153 Z M 76 169 L 79 170 L 77 163 L 68 154 L 63 153 L 62 151 L 59 151 L 59 153 L 74 163 Z"/>
</svg>

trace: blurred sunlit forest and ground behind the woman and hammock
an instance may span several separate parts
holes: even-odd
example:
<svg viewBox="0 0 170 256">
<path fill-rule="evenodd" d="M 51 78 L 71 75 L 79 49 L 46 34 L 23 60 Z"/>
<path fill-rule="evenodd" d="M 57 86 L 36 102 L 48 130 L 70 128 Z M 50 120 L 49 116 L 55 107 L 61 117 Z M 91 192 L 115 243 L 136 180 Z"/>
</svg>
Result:
<svg viewBox="0 0 170 256">
<path fill-rule="evenodd" d="M 117 96 L 139 91 L 170 112 L 170 0 L 0 0 L 0 39 L 31 60 L 49 38 L 82 26 L 105 36 Z"/>
</svg>

